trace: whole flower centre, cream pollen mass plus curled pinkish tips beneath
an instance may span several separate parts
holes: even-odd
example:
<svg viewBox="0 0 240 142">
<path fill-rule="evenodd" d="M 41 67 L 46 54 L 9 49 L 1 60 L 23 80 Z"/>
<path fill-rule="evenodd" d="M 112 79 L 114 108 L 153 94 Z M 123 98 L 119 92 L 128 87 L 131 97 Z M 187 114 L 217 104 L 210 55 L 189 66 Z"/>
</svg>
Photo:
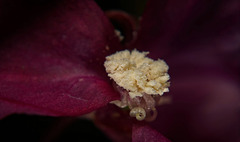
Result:
<svg viewBox="0 0 240 142">
<path fill-rule="evenodd" d="M 146 57 L 147 54 L 137 50 L 119 51 L 107 56 L 104 63 L 113 86 L 121 94 L 121 100 L 111 103 L 129 107 L 129 115 L 139 121 L 156 118 L 155 107 L 170 86 L 168 65 L 163 60 Z"/>
</svg>

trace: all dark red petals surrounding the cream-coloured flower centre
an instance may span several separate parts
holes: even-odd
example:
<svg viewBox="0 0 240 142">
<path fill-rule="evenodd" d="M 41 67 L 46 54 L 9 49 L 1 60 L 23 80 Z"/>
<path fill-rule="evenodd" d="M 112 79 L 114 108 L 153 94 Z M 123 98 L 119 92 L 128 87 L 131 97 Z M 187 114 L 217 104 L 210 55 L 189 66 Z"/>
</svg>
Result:
<svg viewBox="0 0 240 142">
<path fill-rule="evenodd" d="M 97 110 L 96 124 L 115 140 L 131 131 L 133 141 L 239 140 L 237 0 L 149 0 L 136 40 L 124 46 L 92 0 L 27 2 L 30 10 L 0 13 L 1 117 Z M 103 63 L 123 48 L 147 50 L 170 67 L 172 103 L 158 107 L 154 122 L 106 106 L 119 94 Z"/>
</svg>

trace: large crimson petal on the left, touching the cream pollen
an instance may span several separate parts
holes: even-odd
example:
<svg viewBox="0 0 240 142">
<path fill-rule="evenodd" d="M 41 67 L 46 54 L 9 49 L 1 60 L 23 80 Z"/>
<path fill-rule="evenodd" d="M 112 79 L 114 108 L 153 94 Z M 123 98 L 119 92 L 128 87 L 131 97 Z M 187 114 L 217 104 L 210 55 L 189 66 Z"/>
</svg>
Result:
<svg viewBox="0 0 240 142">
<path fill-rule="evenodd" d="M 103 67 L 119 47 L 112 25 L 92 0 L 53 2 L 1 39 L 0 117 L 81 115 L 118 96 Z"/>
</svg>

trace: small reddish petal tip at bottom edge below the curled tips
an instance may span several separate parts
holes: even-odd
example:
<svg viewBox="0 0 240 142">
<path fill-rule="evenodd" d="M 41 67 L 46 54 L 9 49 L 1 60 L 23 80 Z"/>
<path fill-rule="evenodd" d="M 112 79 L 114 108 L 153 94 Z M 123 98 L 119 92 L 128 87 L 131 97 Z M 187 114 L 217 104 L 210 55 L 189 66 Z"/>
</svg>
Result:
<svg viewBox="0 0 240 142">
<path fill-rule="evenodd" d="M 158 131 L 152 129 L 148 125 L 133 125 L 132 130 L 133 142 L 170 142 Z"/>
</svg>

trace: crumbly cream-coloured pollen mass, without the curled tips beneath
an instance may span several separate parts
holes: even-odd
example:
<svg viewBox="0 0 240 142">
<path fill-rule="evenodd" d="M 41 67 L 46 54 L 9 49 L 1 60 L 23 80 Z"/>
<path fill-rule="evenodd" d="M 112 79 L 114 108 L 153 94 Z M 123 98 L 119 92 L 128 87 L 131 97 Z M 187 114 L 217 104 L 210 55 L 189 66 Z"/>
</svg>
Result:
<svg viewBox="0 0 240 142">
<path fill-rule="evenodd" d="M 129 96 L 162 95 L 168 92 L 168 65 L 163 60 L 152 60 L 148 52 L 128 50 L 107 56 L 104 66 L 108 76 L 129 92 Z"/>
</svg>

